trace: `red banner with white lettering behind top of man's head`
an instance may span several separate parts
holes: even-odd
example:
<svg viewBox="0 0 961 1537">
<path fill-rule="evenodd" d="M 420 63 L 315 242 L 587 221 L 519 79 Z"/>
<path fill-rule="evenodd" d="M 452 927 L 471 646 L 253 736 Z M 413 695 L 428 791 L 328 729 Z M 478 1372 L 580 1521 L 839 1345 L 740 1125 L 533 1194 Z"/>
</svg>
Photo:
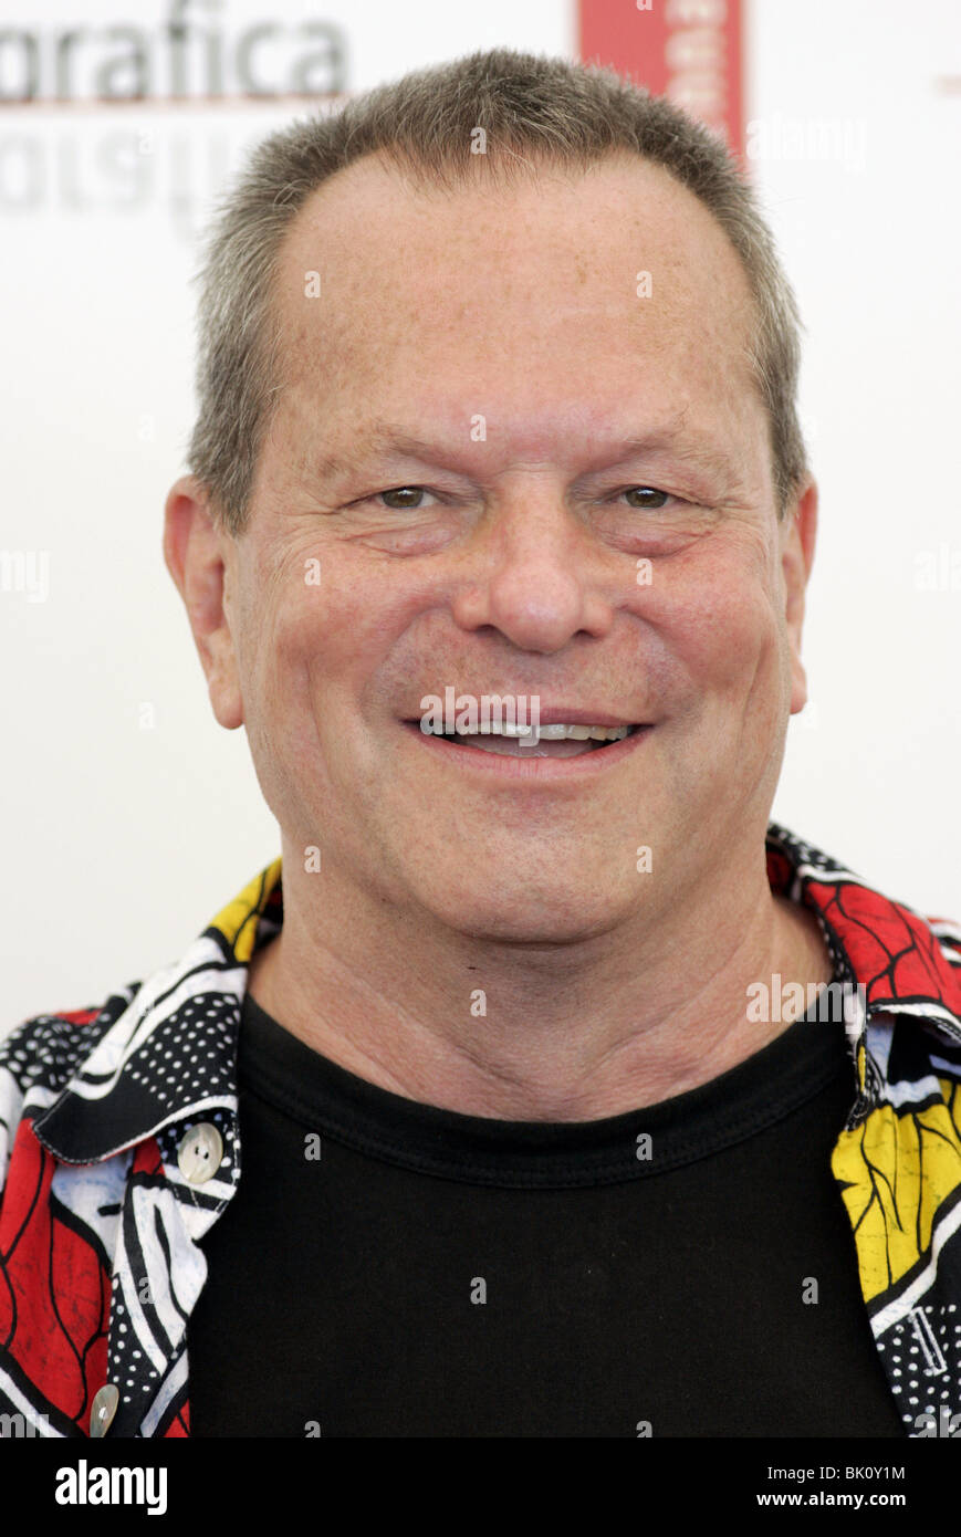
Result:
<svg viewBox="0 0 961 1537">
<path fill-rule="evenodd" d="M 578 0 L 580 57 L 670 97 L 744 154 L 741 0 Z"/>
</svg>

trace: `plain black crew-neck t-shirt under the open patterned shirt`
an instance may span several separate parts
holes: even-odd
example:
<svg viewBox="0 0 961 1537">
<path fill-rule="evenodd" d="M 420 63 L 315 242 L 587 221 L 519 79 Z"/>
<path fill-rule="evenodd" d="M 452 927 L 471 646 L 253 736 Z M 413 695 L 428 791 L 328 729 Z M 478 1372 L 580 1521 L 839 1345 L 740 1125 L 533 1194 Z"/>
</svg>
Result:
<svg viewBox="0 0 961 1537">
<path fill-rule="evenodd" d="M 830 1171 L 841 1024 L 560 1125 L 377 1088 L 249 994 L 238 1070 L 192 1436 L 906 1434 Z"/>
</svg>

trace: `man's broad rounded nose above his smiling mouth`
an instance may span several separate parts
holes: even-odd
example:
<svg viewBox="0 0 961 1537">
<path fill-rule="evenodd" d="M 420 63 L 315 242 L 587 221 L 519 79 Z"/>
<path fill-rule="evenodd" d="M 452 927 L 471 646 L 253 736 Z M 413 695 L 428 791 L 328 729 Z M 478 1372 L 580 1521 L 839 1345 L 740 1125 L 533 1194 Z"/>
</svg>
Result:
<svg viewBox="0 0 961 1537">
<path fill-rule="evenodd" d="M 560 496 L 518 490 L 484 523 L 452 604 L 461 629 L 492 626 L 520 650 L 544 655 L 575 635 L 609 632 L 603 552 Z"/>
</svg>

